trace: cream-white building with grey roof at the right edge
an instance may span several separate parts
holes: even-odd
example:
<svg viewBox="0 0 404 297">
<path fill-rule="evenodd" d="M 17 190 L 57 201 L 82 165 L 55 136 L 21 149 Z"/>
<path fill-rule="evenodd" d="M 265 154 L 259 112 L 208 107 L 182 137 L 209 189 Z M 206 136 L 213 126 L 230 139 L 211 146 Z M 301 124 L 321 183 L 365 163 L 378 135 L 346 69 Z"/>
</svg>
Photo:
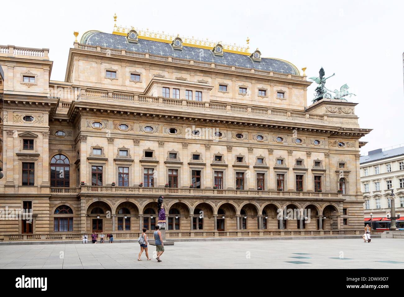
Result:
<svg viewBox="0 0 404 297">
<path fill-rule="evenodd" d="M 370 221 L 372 213 L 374 228 L 387 227 L 391 189 L 396 195 L 396 213 L 404 217 L 404 147 L 385 151 L 378 149 L 370 151 L 368 156 L 361 156 L 360 181 L 365 200 L 365 222 Z M 404 220 L 399 220 L 397 226 L 404 227 Z"/>
</svg>

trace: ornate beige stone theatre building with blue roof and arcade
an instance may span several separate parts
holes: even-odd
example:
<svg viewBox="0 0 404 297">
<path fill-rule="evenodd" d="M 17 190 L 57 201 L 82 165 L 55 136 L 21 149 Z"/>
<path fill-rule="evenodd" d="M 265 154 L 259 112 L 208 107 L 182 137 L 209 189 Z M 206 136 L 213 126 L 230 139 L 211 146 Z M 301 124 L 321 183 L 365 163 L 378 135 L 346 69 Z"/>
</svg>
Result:
<svg viewBox="0 0 404 297">
<path fill-rule="evenodd" d="M 33 214 L 0 221 L 0 240 L 137 237 L 160 195 L 168 238 L 362 232 L 370 130 L 357 103 L 307 106 L 291 63 L 115 26 L 74 42 L 65 81 L 52 64 L 48 49 L 0 46 L 0 207 Z"/>
</svg>

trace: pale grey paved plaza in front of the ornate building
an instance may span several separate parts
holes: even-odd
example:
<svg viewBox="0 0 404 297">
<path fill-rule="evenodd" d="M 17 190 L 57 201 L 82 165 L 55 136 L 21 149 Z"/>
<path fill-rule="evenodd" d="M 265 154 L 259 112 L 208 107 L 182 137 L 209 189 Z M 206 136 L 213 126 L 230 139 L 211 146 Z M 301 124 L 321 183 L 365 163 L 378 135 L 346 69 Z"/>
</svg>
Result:
<svg viewBox="0 0 404 297">
<path fill-rule="evenodd" d="M 162 262 L 137 261 L 139 244 L 38 244 L 0 246 L 0 268 L 299 268 L 403 269 L 404 239 L 259 240 L 176 242 Z M 149 256 L 155 252 L 149 246 Z"/>
</svg>

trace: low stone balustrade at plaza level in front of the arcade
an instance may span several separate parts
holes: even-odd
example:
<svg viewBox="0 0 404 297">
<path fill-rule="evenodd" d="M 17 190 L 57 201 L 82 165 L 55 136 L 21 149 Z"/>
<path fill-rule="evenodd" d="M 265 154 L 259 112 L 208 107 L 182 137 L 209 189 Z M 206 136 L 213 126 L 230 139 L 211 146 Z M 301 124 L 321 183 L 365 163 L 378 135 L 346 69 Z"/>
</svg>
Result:
<svg viewBox="0 0 404 297">
<path fill-rule="evenodd" d="M 115 240 L 137 239 L 141 232 L 117 232 L 105 230 L 104 233 L 113 233 Z M 175 238 L 231 238 L 231 237 L 290 237 L 290 236 L 332 236 L 332 235 L 362 235 L 363 230 L 166 230 L 167 239 Z M 153 233 L 146 233 L 149 238 Z M 90 238 L 91 234 L 87 234 Z M 80 233 L 46 233 L 46 234 L 4 234 L 4 241 L 42 241 L 42 240 L 82 240 Z M 99 238 L 98 238 L 99 240 Z"/>
</svg>

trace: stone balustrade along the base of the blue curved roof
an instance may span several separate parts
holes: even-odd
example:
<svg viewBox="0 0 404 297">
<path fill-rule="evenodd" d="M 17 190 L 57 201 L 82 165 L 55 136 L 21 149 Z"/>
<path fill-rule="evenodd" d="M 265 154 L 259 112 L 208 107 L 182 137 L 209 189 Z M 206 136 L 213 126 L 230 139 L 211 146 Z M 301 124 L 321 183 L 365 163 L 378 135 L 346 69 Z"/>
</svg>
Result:
<svg viewBox="0 0 404 297">
<path fill-rule="evenodd" d="M 85 51 L 98 51 L 101 53 L 107 53 L 109 55 L 111 55 L 111 54 L 112 55 L 124 55 L 124 56 L 129 56 L 129 57 L 151 59 L 151 60 L 179 63 L 179 64 L 186 64 L 186 65 L 195 65 L 195 66 L 199 66 L 199 67 L 209 67 L 209 68 L 215 68 L 215 69 L 221 69 L 221 70 L 227 70 L 227 71 L 235 71 L 235 72 L 241 72 L 241 73 L 250 73 L 250 74 L 263 75 L 263 76 L 288 78 L 288 79 L 292 79 L 292 80 L 306 80 L 306 76 L 300 76 L 300 75 L 295 75 L 295 74 L 277 73 L 277 72 L 272 72 L 272 71 L 257 70 L 257 69 L 253 69 L 253 68 L 242 68 L 242 67 L 222 65 L 222 64 L 216 64 L 216 63 L 208 63 L 208 62 L 202 62 L 202 61 L 178 59 L 175 57 L 151 55 L 151 54 L 146 54 L 146 53 L 136 53 L 136 52 L 125 51 L 125 50 L 117 50 L 115 48 L 104 48 L 101 46 L 91 46 L 91 45 L 87 45 L 87 44 L 80 44 L 77 42 L 75 42 L 74 46 L 75 46 L 75 48 L 79 48 L 79 49 L 82 49 Z M 1 48 L 0 48 L 0 53 L 1 53 Z"/>
</svg>

